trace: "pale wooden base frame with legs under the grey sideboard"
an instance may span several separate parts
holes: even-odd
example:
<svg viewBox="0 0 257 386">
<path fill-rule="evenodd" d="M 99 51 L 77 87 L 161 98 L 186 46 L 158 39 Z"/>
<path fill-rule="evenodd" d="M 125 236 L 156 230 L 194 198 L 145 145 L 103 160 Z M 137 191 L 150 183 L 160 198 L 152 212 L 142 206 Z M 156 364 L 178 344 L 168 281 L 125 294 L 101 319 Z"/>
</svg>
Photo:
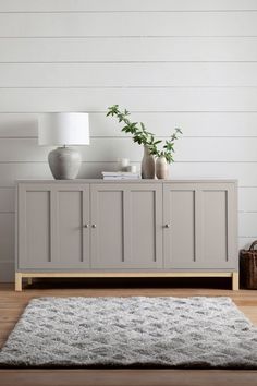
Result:
<svg viewBox="0 0 257 386">
<path fill-rule="evenodd" d="M 240 289 L 238 272 L 172 272 L 172 273 L 15 273 L 15 291 L 22 291 L 23 278 L 32 284 L 33 278 L 107 278 L 107 277 L 231 277 L 232 290 Z"/>
</svg>

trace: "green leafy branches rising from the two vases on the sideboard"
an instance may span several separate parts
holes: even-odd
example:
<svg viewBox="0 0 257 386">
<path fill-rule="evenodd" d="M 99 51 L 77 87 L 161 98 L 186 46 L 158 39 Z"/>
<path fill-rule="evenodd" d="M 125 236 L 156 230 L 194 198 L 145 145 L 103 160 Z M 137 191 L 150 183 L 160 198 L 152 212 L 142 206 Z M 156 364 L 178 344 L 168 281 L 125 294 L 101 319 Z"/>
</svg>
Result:
<svg viewBox="0 0 257 386">
<path fill-rule="evenodd" d="M 158 145 L 162 143 L 161 140 L 155 140 L 155 134 L 148 132 L 143 122 L 131 122 L 127 118 L 131 113 L 125 109 L 121 111 L 119 105 L 113 105 L 108 108 L 107 117 L 117 117 L 119 123 L 124 123 L 122 132 L 126 134 L 132 134 L 132 138 L 138 145 L 145 145 L 148 147 L 149 153 L 157 157 L 166 157 L 169 164 L 173 162 L 174 159 L 172 154 L 174 153 L 174 142 L 179 138 L 178 134 L 182 134 L 182 131 L 176 128 L 175 132 L 171 135 L 169 141 L 166 141 L 162 150 L 158 149 Z"/>
</svg>

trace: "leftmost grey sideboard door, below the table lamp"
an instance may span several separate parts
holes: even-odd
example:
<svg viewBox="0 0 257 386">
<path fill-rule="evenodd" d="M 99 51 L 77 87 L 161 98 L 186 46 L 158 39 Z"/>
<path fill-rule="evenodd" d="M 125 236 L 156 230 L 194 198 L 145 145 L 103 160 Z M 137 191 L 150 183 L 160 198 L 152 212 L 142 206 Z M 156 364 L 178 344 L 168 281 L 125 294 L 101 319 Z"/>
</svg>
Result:
<svg viewBox="0 0 257 386">
<path fill-rule="evenodd" d="M 89 185 L 20 184 L 17 218 L 19 268 L 89 267 Z"/>
</svg>

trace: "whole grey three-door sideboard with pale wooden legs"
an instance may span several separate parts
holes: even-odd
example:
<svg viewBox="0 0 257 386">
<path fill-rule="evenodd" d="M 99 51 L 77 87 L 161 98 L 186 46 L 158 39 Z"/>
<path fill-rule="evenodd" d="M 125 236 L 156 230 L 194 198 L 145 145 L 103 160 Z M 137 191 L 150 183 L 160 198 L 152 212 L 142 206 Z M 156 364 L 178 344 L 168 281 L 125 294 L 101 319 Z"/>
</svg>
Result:
<svg viewBox="0 0 257 386">
<path fill-rule="evenodd" d="M 16 185 L 15 289 L 35 277 L 218 277 L 238 288 L 234 180 Z"/>
</svg>

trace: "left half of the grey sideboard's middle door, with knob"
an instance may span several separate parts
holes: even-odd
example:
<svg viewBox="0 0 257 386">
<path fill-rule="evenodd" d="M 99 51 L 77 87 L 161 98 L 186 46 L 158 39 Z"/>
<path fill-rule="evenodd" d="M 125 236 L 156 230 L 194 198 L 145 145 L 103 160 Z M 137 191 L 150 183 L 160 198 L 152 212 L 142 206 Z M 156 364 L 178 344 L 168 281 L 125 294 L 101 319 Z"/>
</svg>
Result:
<svg viewBox="0 0 257 386">
<path fill-rule="evenodd" d="M 91 267 L 115 267 L 124 262 L 123 214 L 122 186 L 91 186 Z"/>
</svg>

